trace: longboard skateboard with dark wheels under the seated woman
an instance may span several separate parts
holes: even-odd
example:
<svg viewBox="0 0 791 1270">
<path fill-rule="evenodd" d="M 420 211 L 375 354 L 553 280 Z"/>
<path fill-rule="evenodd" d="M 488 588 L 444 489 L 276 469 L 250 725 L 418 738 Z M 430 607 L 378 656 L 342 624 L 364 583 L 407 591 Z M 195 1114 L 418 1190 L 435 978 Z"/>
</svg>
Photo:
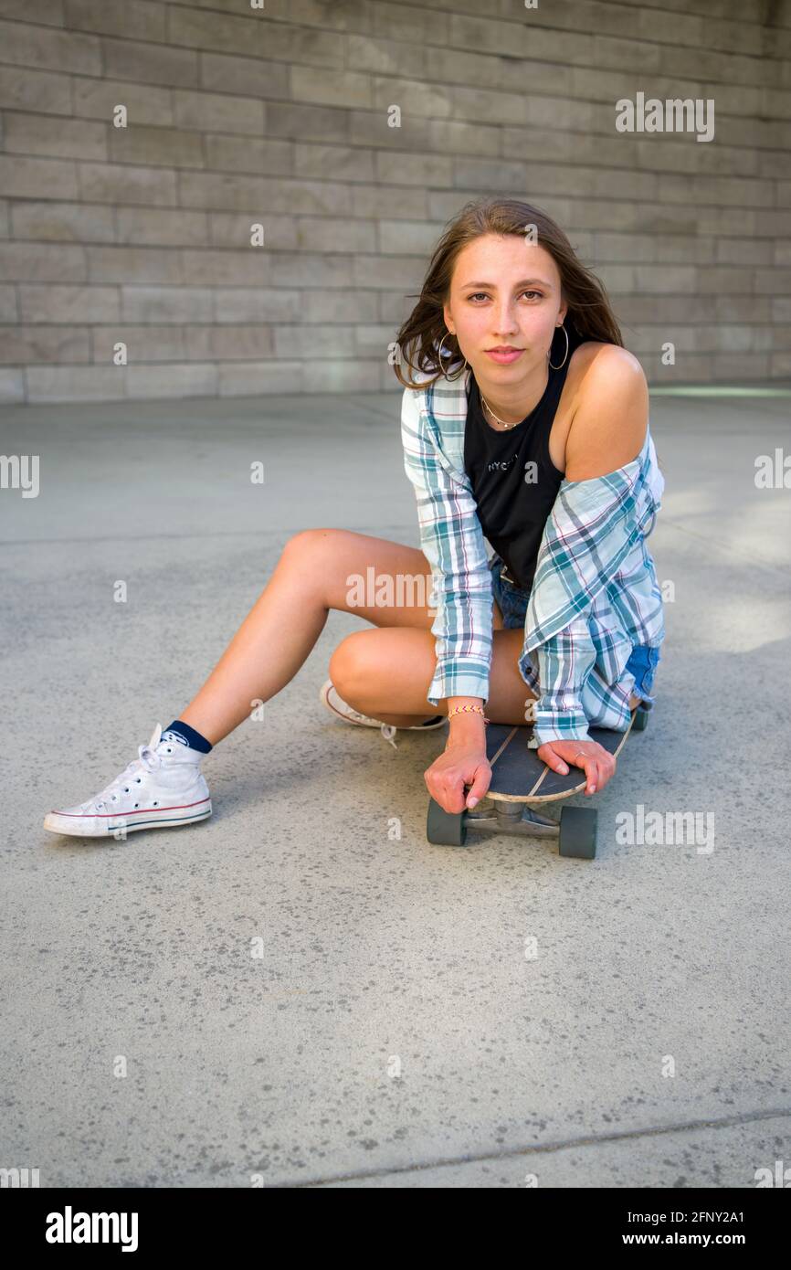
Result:
<svg viewBox="0 0 791 1270">
<path fill-rule="evenodd" d="M 611 728 L 589 728 L 590 740 L 617 757 L 630 732 L 642 732 L 649 711 L 642 706 L 632 710 L 626 732 Z M 543 763 L 536 749 L 529 748 L 533 729 L 528 725 L 490 724 L 486 729 L 486 758 L 491 765 L 491 784 L 486 794 L 470 810 L 446 812 L 430 799 L 427 837 L 434 846 L 463 847 L 467 831 L 476 833 L 513 833 L 526 838 L 557 838 L 561 856 L 579 860 L 595 857 L 597 812 L 590 806 L 564 806 L 560 819 L 543 814 L 548 803 L 557 803 L 580 794 L 588 784 L 582 767 L 569 766 L 566 776 L 560 776 Z M 491 806 L 484 806 L 491 803 Z"/>
</svg>

